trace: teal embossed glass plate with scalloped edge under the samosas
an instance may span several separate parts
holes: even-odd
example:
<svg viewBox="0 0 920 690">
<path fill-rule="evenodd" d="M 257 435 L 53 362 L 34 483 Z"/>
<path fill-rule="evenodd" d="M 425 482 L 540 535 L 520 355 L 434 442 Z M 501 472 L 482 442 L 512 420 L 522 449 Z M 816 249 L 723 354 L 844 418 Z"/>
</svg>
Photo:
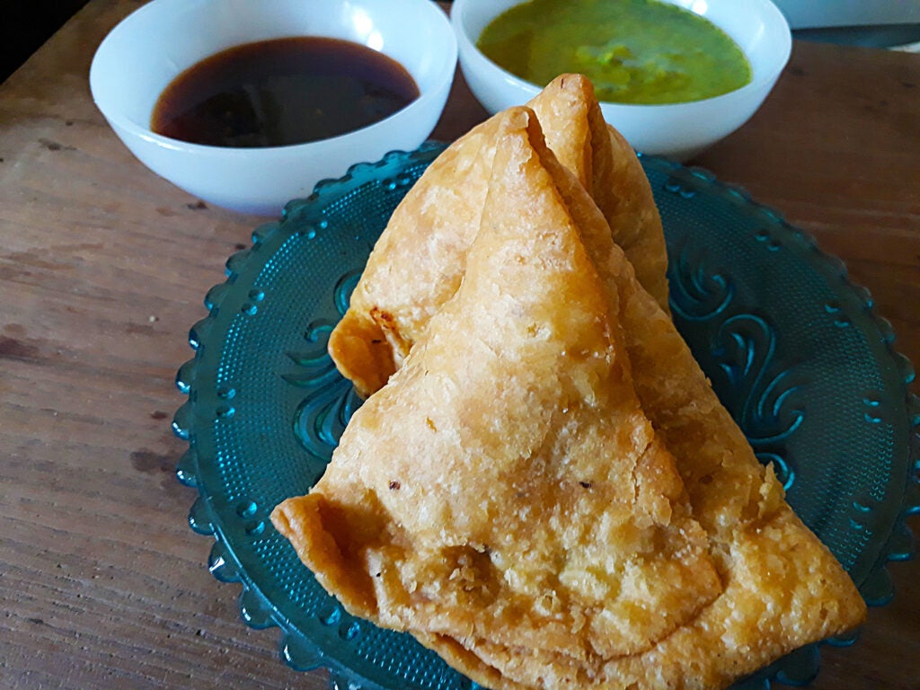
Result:
<svg viewBox="0 0 920 690">
<path fill-rule="evenodd" d="M 348 615 L 268 519 L 322 475 L 361 404 L 328 358 L 328 334 L 390 213 L 441 150 L 354 166 L 259 227 L 207 294 L 208 316 L 190 331 L 194 357 L 177 376 L 188 400 L 173 428 L 189 442 L 177 474 L 198 489 L 189 521 L 214 537 L 209 569 L 242 584 L 249 626 L 281 628 L 285 661 L 327 667 L 351 690 L 478 687 L 408 635 Z M 886 563 L 910 556 L 905 516 L 920 509 L 920 405 L 891 328 L 841 262 L 778 213 L 705 171 L 641 160 L 678 328 L 795 511 L 868 603 L 886 604 Z M 817 670 L 812 645 L 736 688 L 805 684 Z"/>
</svg>

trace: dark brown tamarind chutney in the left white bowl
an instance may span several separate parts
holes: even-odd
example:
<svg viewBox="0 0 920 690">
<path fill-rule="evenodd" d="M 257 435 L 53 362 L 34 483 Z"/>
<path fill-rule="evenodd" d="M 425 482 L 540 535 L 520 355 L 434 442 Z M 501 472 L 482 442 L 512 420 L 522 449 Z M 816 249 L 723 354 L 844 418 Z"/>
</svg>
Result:
<svg viewBox="0 0 920 690">
<path fill-rule="evenodd" d="M 154 132 L 192 144 L 304 144 L 361 129 L 408 106 L 406 68 L 349 40 L 261 40 L 205 58 L 156 101 Z"/>
</svg>

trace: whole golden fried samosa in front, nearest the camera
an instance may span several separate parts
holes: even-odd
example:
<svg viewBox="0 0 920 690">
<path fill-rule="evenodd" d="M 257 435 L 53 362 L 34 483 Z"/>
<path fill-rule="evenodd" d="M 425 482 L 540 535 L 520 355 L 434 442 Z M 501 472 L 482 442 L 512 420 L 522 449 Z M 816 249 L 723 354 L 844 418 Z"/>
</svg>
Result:
<svg viewBox="0 0 920 690">
<path fill-rule="evenodd" d="M 496 690 L 724 687 L 856 625 L 852 583 L 696 390 L 532 114 L 501 122 L 463 284 L 277 528 L 351 613 Z M 641 339 L 677 362 L 648 399 Z"/>
</svg>

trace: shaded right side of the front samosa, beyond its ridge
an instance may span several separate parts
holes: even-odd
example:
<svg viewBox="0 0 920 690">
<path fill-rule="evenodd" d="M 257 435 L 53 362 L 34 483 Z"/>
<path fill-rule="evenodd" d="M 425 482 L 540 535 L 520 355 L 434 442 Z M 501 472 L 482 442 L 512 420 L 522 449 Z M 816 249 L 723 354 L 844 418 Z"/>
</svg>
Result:
<svg viewBox="0 0 920 690">
<path fill-rule="evenodd" d="M 633 385 L 675 458 L 725 585 L 693 626 L 654 653 L 608 663 L 607 673 L 623 683 L 609 687 L 722 687 L 789 650 L 856 627 L 866 606 L 845 570 L 788 506 L 772 469 L 759 464 L 670 316 L 611 241 L 590 196 L 551 156 L 544 165 L 599 275 L 617 294 Z M 640 683 L 659 655 L 673 660 L 667 672 Z M 520 655 L 513 660 L 522 673 L 539 667 Z"/>
</svg>

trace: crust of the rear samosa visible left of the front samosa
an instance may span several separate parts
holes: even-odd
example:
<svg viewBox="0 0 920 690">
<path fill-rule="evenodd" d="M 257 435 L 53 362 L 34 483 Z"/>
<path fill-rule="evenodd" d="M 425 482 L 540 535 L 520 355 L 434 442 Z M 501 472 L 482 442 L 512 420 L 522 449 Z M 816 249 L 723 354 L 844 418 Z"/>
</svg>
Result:
<svg viewBox="0 0 920 690">
<path fill-rule="evenodd" d="M 488 189 L 494 127 L 478 125 L 425 170 L 393 213 L 332 331 L 329 354 L 363 397 L 386 383 L 460 285 Z M 443 232 L 448 226 L 454 231 Z M 389 317 L 386 333 L 374 319 L 381 312 Z"/>
</svg>

